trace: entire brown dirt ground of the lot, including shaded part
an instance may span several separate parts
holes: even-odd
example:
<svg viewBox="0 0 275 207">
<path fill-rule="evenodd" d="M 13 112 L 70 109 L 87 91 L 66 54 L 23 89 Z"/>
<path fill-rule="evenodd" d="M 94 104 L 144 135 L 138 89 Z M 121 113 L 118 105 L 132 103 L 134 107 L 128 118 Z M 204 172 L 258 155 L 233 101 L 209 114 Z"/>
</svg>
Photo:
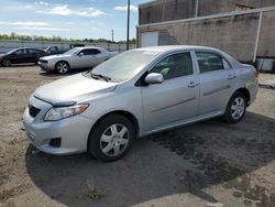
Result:
<svg viewBox="0 0 275 207">
<path fill-rule="evenodd" d="M 0 206 L 275 206 L 275 90 L 261 88 L 238 124 L 217 119 L 157 133 L 101 163 L 47 155 L 25 140 L 30 95 L 61 77 L 0 68 Z"/>
</svg>

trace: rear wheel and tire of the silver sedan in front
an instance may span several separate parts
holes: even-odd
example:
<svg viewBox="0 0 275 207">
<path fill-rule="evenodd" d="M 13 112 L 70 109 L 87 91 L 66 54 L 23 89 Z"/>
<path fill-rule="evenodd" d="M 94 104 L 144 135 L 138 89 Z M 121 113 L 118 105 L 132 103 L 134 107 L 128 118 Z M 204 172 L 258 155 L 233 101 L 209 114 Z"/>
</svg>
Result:
<svg viewBox="0 0 275 207">
<path fill-rule="evenodd" d="M 246 107 L 246 97 L 240 91 L 234 92 L 228 102 L 223 120 L 228 123 L 239 122 L 245 115 Z"/>
</svg>

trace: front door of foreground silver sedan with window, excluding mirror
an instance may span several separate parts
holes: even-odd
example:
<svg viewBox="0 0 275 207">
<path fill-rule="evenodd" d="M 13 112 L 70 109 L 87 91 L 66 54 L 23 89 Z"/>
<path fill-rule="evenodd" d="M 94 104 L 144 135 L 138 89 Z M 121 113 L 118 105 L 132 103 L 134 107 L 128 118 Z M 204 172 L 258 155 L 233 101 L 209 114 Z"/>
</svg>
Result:
<svg viewBox="0 0 275 207">
<path fill-rule="evenodd" d="M 189 52 L 166 56 L 148 73 L 163 74 L 164 81 L 142 88 L 146 131 L 177 124 L 197 116 L 199 83 Z"/>
</svg>

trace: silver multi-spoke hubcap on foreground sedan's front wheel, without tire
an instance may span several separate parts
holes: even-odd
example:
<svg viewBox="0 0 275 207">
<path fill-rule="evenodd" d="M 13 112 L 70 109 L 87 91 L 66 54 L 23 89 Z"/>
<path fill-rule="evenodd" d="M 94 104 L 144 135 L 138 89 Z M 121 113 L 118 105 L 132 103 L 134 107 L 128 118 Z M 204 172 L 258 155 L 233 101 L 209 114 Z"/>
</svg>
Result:
<svg viewBox="0 0 275 207">
<path fill-rule="evenodd" d="M 129 130 L 125 126 L 116 123 L 105 130 L 100 138 L 100 150 L 108 156 L 121 154 L 129 143 Z"/>
</svg>

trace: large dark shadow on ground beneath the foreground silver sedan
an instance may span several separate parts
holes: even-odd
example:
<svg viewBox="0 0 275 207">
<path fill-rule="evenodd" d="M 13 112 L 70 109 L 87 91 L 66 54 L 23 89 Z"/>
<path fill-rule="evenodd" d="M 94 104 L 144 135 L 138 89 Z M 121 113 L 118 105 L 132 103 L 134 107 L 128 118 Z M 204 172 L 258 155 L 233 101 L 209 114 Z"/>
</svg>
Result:
<svg viewBox="0 0 275 207">
<path fill-rule="evenodd" d="M 66 206 L 130 206 L 187 192 L 217 201 L 201 190 L 216 184 L 266 206 L 272 203 L 266 190 L 243 175 L 275 159 L 274 133 L 274 119 L 248 112 L 238 124 L 210 120 L 139 139 L 114 163 L 88 154 L 35 154 L 32 146 L 25 163 L 34 184 Z"/>
</svg>

